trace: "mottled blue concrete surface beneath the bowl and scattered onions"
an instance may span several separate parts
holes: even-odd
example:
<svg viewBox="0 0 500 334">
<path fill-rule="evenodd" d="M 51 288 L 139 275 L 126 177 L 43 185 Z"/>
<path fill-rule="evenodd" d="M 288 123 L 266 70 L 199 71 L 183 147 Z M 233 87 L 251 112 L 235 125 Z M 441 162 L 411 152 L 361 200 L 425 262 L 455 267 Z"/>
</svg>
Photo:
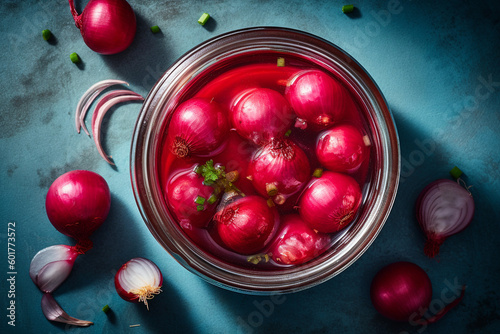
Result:
<svg viewBox="0 0 500 334">
<path fill-rule="evenodd" d="M 76 1 L 77 9 L 87 1 Z M 86 47 L 66 1 L 0 2 L 0 332 L 5 333 L 493 333 L 500 331 L 500 3 L 490 1 L 136 1 L 131 47 L 101 56 Z M 213 19 L 202 27 L 197 19 Z M 149 27 L 160 26 L 153 35 Z M 138 103 L 106 117 L 104 145 L 116 169 L 93 141 L 74 130 L 74 108 L 93 83 L 123 79 L 146 95 L 182 54 L 221 33 L 252 26 L 300 29 L 327 39 L 356 58 L 380 86 L 394 113 L 402 153 L 401 185 L 392 213 L 368 251 L 322 285 L 280 297 L 256 297 L 205 283 L 176 263 L 154 240 L 136 207 L 129 182 L 129 150 Z M 55 40 L 41 37 L 50 29 Z M 69 54 L 83 60 L 75 66 Z M 89 118 L 87 118 L 89 119 Z M 87 121 L 89 124 L 89 121 Z M 423 254 L 413 205 L 429 182 L 454 165 L 472 184 L 476 215 L 449 238 L 440 256 Z M 88 169 L 112 192 L 110 215 L 54 294 L 70 314 L 95 324 L 72 328 L 48 322 L 41 292 L 31 282 L 33 255 L 74 244 L 45 213 L 49 185 L 60 174 Z M 16 326 L 7 324 L 7 229 L 15 222 Z M 120 299 L 116 270 L 132 257 L 156 262 L 164 292 L 150 310 Z M 369 286 L 384 265 L 410 260 L 433 283 L 434 307 L 449 286 L 466 284 L 462 303 L 422 328 L 393 323 L 371 305 Z M 447 290 L 448 289 L 448 290 Z M 446 295 L 448 298 L 450 295 Z M 106 316 L 102 306 L 113 313 Z M 129 325 L 140 324 L 130 328 Z"/>
</svg>

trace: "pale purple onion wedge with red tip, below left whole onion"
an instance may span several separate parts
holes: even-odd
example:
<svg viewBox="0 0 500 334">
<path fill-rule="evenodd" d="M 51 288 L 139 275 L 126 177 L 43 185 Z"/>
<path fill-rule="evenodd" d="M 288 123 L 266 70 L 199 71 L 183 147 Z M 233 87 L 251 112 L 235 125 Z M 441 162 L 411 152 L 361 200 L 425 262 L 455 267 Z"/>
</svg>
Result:
<svg viewBox="0 0 500 334">
<path fill-rule="evenodd" d="M 75 247 L 66 245 L 42 249 L 31 260 L 30 277 L 33 283 L 43 292 L 53 292 L 69 276 L 80 254 Z"/>
</svg>

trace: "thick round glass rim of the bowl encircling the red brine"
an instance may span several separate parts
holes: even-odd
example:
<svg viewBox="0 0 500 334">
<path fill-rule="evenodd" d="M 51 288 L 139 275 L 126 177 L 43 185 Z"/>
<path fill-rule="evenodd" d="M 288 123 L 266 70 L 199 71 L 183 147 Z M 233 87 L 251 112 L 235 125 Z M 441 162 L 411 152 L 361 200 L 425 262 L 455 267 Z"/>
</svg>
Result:
<svg viewBox="0 0 500 334">
<path fill-rule="evenodd" d="M 193 82 L 211 68 L 259 52 L 298 55 L 341 77 L 362 105 L 371 136 L 371 161 L 357 219 L 321 256 L 300 266 L 260 271 L 232 265 L 202 251 L 179 228 L 163 199 L 158 158 L 173 110 Z M 222 65 L 221 65 L 222 64 Z M 226 64 L 226 65 L 223 65 Z M 295 292 L 318 285 L 356 261 L 375 240 L 392 208 L 399 181 L 400 151 L 394 120 L 370 75 L 347 53 L 314 35 L 277 27 L 228 32 L 193 48 L 158 80 L 139 114 L 131 147 L 135 199 L 156 240 L 182 266 L 204 280 L 250 294 Z"/>
</svg>

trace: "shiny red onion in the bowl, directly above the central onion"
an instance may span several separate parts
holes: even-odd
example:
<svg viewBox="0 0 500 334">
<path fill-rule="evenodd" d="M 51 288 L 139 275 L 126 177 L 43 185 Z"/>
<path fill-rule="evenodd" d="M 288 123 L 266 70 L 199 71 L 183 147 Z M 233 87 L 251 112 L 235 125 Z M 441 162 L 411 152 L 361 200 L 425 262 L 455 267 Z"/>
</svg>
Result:
<svg viewBox="0 0 500 334">
<path fill-rule="evenodd" d="M 286 99 L 269 88 L 244 90 L 234 99 L 231 108 L 233 127 L 243 138 L 257 145 L 284 136 L 294 118 Z"/>
</svg>

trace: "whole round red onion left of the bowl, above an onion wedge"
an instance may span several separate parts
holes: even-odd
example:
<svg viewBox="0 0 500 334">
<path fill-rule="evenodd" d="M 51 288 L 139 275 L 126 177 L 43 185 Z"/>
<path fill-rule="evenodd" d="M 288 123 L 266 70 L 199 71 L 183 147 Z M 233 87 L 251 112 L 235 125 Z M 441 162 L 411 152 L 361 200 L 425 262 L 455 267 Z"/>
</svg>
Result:
<svg viewBox="0 0 500 334">
<path fill-rule="evenodd" d="M 86 170 L 59 176 L 50 186 L 45 200 L 47 216 L 64 235 L 85 240 L 108 216 L 111 194 L 104 178 Z"/>
</svg>

